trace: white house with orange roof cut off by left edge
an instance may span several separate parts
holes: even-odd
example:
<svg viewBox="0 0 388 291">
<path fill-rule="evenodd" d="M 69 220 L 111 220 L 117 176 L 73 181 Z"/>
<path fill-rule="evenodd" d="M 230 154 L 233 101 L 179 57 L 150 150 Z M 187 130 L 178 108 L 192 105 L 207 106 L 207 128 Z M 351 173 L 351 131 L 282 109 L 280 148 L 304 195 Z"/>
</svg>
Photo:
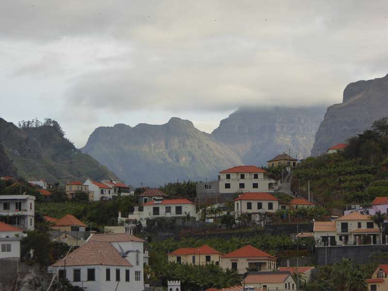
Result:
<svg viewBox="0 0 388 291">
<path fill-rule="evenodd" d="M 23 231 L 15 226 L 0 222 L 0 259 L 19 258 Z"/>
</svg>

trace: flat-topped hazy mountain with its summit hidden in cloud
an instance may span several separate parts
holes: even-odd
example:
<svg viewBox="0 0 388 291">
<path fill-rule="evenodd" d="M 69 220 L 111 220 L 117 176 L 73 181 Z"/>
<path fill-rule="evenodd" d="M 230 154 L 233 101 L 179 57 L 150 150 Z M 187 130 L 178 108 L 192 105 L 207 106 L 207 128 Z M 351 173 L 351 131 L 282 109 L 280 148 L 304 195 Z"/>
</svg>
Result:
<svg viewBox="0 0 388 291">
<path fill-rule="evenodd" d="M 244 164 L 266 165 L 289 149 L 291 156 L 306 158 L 323 113 L 323 107 L 241 108 L 222 120 L 212 135 L 236 152 Z"/>
</svg>

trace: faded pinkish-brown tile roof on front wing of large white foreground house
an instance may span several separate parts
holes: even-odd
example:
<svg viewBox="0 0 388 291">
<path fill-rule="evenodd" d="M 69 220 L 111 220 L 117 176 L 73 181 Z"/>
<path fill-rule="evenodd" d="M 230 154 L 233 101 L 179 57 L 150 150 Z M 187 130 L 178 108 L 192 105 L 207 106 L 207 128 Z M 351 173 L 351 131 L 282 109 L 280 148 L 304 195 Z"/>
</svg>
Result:
<svg viewBox="0 0 388 291">
<path fill-rule="evenodd" d="M 57 261 L 53 267 L 59 267 L 66 259 L 66 266 L 84 266 L 84 265 L 110 265 L 110 266 L 128 266 L 132 264 L 114 248 L 110 242 L 87 242 L 74 252 L 67 255 L 64 259 Z"/>
</svg>

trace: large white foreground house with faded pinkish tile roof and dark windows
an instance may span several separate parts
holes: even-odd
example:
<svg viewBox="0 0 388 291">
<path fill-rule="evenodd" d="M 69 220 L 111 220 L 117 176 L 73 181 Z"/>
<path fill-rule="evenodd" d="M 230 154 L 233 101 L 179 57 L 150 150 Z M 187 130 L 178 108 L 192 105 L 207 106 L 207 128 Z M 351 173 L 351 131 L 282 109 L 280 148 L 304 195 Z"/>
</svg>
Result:
<svg viewBox="0 0 388 291">
<path fill-rule="evenodd" d="M 94 234 L 49 272 L 88 291 L 143 291 L 143 243 L 128 233 Z M 127 257 L 121 249 L 129 251 Z"/>
</svg>

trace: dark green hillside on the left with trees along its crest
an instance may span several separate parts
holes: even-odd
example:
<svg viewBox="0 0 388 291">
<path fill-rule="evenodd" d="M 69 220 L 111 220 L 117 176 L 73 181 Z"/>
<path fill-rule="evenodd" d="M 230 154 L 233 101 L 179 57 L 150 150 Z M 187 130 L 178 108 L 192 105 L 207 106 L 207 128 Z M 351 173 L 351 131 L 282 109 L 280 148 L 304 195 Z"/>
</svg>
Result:
<svg viewBox="0 0 388 291">
<path fill-rule="evenodd" d="M 75 179 L 116 178 L 105 166 L 77 150 L 52 126 L 19 129 L 0 118 L 0 146 L 3 155 L 12 160 L 18 176 L 26 179 L 66 183 Z"/>
</svg>

